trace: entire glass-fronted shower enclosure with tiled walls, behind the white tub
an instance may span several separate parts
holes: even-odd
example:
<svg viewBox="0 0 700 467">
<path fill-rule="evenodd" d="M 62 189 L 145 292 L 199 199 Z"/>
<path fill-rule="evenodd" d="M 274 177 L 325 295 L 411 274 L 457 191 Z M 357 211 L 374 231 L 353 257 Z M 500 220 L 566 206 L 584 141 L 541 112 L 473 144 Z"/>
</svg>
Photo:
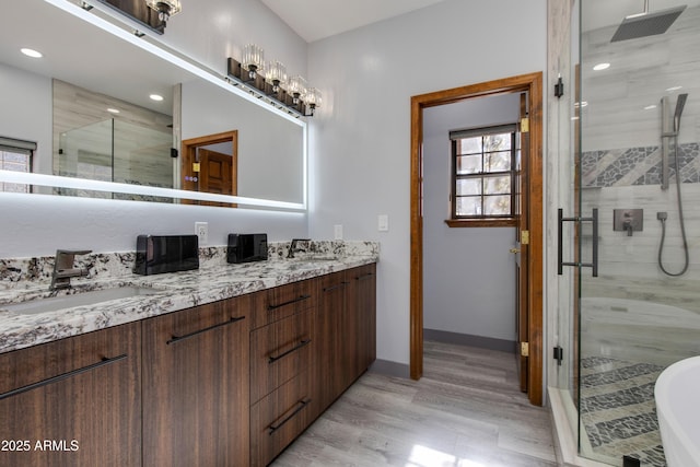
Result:
<svg viewBox="0 0 700 467">
<path fill-rule="evenodd" d="M 654 383 L 700 354 L 700 2 L 572 4 L 550 386 L 579 456 L 665 466 Z"/>
</svg>

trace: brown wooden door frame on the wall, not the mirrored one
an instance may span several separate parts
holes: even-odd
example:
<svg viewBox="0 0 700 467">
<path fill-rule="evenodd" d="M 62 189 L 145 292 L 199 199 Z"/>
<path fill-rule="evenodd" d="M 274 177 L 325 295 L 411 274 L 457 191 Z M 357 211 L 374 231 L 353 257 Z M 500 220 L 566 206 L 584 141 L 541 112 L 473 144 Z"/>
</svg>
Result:
<svg viewBox="0 0 700 467">
<path fill-rule="evenodd" d="M 411 97 L 411 230 L 410 230 L 410 377 L 423 374 L 423 215 L 422 143 L 423 108 L 498 94 L 529 94 L 529 359 L 528 398 L 542 405 L 542 73 L 528 73 L 501 80 L 436 91 Z"/>
</svg>

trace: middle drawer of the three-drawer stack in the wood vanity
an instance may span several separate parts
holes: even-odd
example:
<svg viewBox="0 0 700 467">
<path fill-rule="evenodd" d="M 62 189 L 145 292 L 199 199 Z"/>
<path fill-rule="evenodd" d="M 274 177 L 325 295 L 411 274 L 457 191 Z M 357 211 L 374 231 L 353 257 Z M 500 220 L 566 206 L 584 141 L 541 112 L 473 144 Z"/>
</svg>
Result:
<svg viewBox="0 0 700 467">
<path fill-rule="evenodd" d="M 252 402 L 311 370 L 313 319 L 313 310 L 307 310 L 250 332 Z"/>
</svg>

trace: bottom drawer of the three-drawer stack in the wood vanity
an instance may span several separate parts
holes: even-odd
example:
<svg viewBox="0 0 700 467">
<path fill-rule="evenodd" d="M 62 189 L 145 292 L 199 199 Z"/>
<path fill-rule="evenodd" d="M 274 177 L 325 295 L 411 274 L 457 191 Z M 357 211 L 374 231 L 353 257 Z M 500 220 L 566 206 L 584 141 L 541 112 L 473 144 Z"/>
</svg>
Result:
<svg viewBox="0 0 700 467">
<path fill-rule="evenodd" d="M 268 465 L 314 420 L 311 372 L 284 383 L 250 407 L 250 465 Z"/>
</svg>

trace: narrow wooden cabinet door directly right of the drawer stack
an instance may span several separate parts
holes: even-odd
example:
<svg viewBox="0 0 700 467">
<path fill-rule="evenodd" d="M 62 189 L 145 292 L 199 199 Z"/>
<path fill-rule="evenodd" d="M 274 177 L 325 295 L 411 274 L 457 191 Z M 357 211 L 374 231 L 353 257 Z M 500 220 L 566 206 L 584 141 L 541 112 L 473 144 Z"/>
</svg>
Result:
<svg viewBox="0 0 700 467">
<path fill-rule="evenodd" d="M 354 335 L 353 326 L 346 328 L 348 281 L 345 271 L 324 276 L 319 282 L 316 314 L 316 393 L 318 407 L 326 409 L 347 387 L 347 339 Z"/>
</svg>

